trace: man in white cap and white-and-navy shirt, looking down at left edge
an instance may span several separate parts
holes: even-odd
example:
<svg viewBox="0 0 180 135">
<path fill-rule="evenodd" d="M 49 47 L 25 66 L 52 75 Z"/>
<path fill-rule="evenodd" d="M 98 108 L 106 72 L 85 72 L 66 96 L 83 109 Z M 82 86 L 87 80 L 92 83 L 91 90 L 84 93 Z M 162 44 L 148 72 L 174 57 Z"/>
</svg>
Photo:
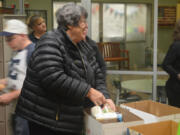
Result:
<svg viewBox="0 0 180 135">
<path fill-rule="evenodd" d="M 34 44 L 29 40 L 27 26 L 20 20 L 12 19 L 7 21 L 1 36 L 5 36 L 7 45 L 13 50 L 8 70 L 8 77 L 1 79 L 0 84 L 4 85 L 1 90 L 0 104 L 10 104 L 14 113 L 16 99 L 19 97 L 24 82 L 27 63 L 34 50 Z M 14 134 L 29 135 L 27 120 L 13 114 Z"/>
</svg>

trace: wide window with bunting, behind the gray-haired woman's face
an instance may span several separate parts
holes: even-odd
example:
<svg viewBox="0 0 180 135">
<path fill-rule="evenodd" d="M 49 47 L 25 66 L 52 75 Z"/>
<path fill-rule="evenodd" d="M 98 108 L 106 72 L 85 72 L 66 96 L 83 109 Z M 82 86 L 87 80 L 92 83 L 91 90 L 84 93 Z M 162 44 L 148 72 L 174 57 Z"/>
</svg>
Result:
<svg viewBox="0 0 180 135">
<path fill-rule="evenodd" d="M 144 41 L 146 4 L 92 4 L 92 39 L 99 41 Z"/>
</svg>

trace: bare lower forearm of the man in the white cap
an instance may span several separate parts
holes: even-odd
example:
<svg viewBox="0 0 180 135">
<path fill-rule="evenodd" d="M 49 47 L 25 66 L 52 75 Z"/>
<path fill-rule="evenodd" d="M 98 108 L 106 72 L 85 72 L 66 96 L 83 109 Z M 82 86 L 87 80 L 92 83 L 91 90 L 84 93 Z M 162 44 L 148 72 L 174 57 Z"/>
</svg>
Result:
<svg viewBox="0 0 180 135">
<path fill-rule="evenodd" d="M 0 95 L 0 104 L 9 104 L 14 99 L 17 99 L 21 93 L 21 90 L 12 90 L 11 92 Z"/>
</svg>

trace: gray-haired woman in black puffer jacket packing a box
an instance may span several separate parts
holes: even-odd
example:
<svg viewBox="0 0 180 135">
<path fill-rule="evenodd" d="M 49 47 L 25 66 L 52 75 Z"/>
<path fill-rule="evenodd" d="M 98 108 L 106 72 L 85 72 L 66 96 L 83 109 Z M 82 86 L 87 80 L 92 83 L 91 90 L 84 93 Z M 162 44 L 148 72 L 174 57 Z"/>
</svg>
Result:
<svg viewBox="0 0 180 135">
<path fill-rule="evenodd" d="M 115 110 L 94 48 L 80 42 L 87 16 L 82 6 L 66 4 L 56 13 L 58 29 L 37 42 L 16 107 L 31 135 L 80 135 L 85 107 Z"/>
</svg>

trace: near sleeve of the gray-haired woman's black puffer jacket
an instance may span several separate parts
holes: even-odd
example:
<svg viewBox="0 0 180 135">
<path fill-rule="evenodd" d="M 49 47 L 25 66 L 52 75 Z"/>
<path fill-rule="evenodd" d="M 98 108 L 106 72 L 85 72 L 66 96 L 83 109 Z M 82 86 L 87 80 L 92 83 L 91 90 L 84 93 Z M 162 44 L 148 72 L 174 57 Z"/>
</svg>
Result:
<svg viewBox="0 0 180 135">
<path fill-rule="evenodd" d="M 47 37 L 46 37 L 47 38 Z M 65 73 L 63 47 L 53 40 L 40 41 L 33 54 L 33 65 L 41 80 L 41 86 L 47 92 L 68 97 L 71 100 L 83 100 L 90 85 Z"/>
</svg>

